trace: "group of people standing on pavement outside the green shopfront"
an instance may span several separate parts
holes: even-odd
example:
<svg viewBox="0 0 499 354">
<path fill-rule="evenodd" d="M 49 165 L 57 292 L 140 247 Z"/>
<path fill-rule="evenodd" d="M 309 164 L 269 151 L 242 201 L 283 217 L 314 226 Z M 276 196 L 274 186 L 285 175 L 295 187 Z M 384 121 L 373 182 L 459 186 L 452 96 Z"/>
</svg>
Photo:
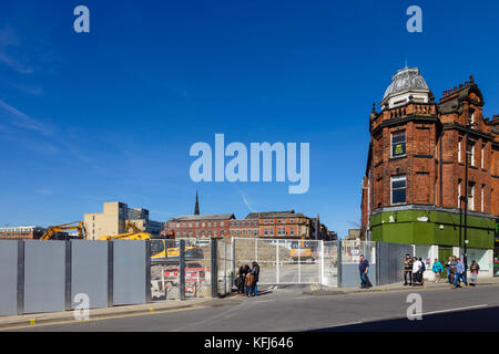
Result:
<svg viewBox="0 0 499 354">
<path fill-rule="evenodd" d="M 410 257 L 410 254 L 406 254 L 406 259 L 404 262 L 404 285 L 422 285 L 426 266 L 421 258 L 417 259 L 416 257 Z M 445 263 L 445 270 L 447 272 L 447 278 L 449 284 L 452 284 L 452 289 L 460 288 L 460 282 L 462 281 L 468 289 L 468 281 L 466 279 L 467 267 L 460 258 L 455 256 L 449 257 L 447 262 Z M 473 260 L 471 262 L 470 271 L 470 285 L 475 287 L 477 284 L 477 278 L 480 267 Z M 444 272 L 444 266 L 435 259 L 434 266 L 431 267 L 431 271 L 435 274 L 435 282 L 441 282 L 441 273 Z"/>
</svg>

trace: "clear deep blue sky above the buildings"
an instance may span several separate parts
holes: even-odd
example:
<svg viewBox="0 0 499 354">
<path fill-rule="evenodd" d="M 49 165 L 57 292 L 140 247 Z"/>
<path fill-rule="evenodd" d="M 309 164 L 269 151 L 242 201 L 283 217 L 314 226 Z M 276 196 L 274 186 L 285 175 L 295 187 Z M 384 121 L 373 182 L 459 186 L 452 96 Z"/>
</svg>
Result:
<svg viewBox="0 0 499 354">
<path fill-rule="evenodd" d="M 90 9 L 91 32 L 73 31 Z M 422 33 L 406 10 L 422 9 Z M 437 98 L 475 75 L 499 113 L 497 1 L 2 1 L 0 226 L 81 220 L 120 200 L 151 217 L 288 210 L 340 236 L 360 218 L 368 115 L 391 75 Z M 379 108 L 378 108 L 379 110 Z M 196 142 L 310 143 L 310 187 L 201 183 Z"/>
</svg>

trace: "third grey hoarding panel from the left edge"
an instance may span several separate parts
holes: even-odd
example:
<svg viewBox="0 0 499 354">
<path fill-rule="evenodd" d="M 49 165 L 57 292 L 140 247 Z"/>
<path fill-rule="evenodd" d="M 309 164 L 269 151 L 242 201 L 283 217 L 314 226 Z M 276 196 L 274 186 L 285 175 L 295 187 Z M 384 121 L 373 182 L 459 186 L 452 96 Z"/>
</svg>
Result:
<svg viewBox="0 0 499 354">
<path fill-rule="evenodd" d="M 90 308 L 108 308 L 108 242 L 71 241 L 71 309 L 74 296 L 86 294 Z"/>
</svg>

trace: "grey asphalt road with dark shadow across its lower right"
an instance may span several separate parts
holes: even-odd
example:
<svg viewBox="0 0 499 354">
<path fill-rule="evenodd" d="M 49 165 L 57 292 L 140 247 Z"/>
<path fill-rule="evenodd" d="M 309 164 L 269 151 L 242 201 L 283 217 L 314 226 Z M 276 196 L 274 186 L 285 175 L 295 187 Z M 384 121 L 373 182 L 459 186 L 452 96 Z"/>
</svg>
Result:
<svg viewBox="0 0 499 354">
<path fill-rule="evenodd" d="M 409 321 L 410 291 L 306 295 L 309 288 L 268 290 L 257 298 L 216 300 L 187 311 L 34 325 L 21 331 L 499 331 L 499 287 L 411 289 L 422 320 Z"/>
</svg>

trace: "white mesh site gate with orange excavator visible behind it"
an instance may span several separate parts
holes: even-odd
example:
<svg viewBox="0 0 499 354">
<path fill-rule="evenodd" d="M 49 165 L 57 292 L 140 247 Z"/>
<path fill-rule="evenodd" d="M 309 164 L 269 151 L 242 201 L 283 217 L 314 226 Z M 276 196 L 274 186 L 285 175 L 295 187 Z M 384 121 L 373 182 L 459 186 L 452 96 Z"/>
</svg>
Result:
<svg viewBox="0 0 499 354">
<path fill-rule="evenodd" d="M 232 252 L 235 273 L 242 266 L 258 263 L 259 284 L 318 284 L 328 277 L 336 285 L 334 246 L 325 248 L 323 241 L 232 238 Z"/>
</svg>

